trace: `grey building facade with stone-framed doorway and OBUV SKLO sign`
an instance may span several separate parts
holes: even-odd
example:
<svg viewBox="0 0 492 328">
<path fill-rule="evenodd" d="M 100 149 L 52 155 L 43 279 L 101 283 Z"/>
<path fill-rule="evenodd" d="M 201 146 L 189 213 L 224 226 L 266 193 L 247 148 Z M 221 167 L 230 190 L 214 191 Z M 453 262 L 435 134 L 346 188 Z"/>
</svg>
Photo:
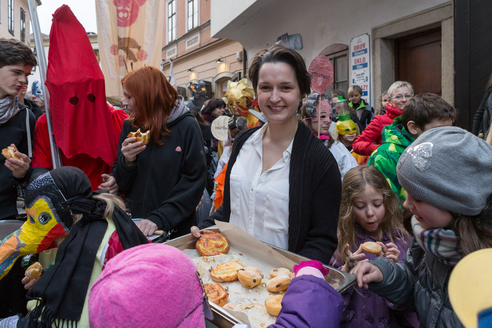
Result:
<svg viewBox="0 0 492 328">
<path fill-rule="evenodd" d="M 281 43 L 307 65 L 327 56 L 334 87 L 365 83 L 373 107 L 396 80 L 454 103 L 453 1 L 211 0 L 211 13 L 211 35 L 248 54 Z"/>
</svg>

